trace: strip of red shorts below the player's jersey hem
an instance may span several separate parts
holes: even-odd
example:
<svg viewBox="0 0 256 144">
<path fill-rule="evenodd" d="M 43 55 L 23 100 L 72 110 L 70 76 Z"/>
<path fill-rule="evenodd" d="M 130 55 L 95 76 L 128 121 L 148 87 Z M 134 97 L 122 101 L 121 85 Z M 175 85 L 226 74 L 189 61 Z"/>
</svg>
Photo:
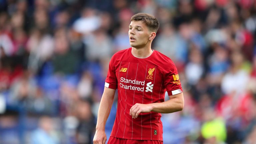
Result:
<svg viewBox="0 0 256 144">
<path fill-rule="evenodd" d="M 163 141 L 158 140 L 131 140 L 109 137 L 108 144 L 163 144 Z"/>
</svg>

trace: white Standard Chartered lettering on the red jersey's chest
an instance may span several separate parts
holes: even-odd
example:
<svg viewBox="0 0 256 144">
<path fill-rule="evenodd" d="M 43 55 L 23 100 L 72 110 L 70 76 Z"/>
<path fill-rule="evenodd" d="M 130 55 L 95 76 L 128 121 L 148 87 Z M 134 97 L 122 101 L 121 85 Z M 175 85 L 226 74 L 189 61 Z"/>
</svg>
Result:
<svg viewBox="0 0 256 144">
<path fill-rule="evenodd" d="M 137 86 L 127 85 L 127 84 L 125 85 L 123 83 L 142 85 L 143 87 L 137 87 Z M 121 79 L 120 79 L 120 87 L 124 88 L 124 89 L 144 91 L 144 84 L 145 84 L 145 81 L 137 81 L 136 79 L 130 80 L 130 79 L 126 79 L 124 77 L 121 77 Z"/>
</svg>

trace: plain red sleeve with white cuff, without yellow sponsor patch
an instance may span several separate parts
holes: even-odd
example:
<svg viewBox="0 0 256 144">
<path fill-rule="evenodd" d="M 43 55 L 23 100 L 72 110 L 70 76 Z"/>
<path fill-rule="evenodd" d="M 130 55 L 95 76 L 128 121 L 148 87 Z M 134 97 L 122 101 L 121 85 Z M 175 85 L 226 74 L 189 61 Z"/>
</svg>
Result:
<svg viewBox="0 0 256 144">
<path fill-rule="evenodd" d="M 111 88 L 111 89 L 117 89 L 117 78 L 116 78 L 115 67 L 113 65 L 113 62 L 114 62 L 114 56 L 111 58 L 109 62 L 108 75 L 105 80 L 105 87 Z"/>
</svg>

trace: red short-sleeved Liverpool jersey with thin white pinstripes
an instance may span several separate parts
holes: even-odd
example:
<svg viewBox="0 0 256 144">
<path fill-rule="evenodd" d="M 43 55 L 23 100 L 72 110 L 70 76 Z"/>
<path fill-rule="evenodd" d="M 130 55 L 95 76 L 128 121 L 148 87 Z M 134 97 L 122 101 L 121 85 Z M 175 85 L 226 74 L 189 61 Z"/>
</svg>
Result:
<svg viewBox="0 0 256 144">
<path fill-rule="evenodd" d="M 111 136 L 135 140 L 163 140 L 161 114 L 140 113 L 135 119 L 130 108 L 136 104 L 164 102 L 168 95 L 182 93 L 177 68 L 170 58 L 154 50 L 147 58 L 136 58 L 132 48 L 119 51 L 109 62 L 105 87 L 118 89 L 116 119 Z"/>
</svg>

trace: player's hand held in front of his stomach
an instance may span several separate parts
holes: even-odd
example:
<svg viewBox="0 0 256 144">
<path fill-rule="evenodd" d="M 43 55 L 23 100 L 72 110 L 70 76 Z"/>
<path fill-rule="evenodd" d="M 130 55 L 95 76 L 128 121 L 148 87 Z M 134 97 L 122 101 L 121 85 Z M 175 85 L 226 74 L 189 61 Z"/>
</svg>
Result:
<svg viewBox="0 0 256 144">
<path fill-rule="evenodd" d="M 131 107 L 130 115 L 132 116 L 132 118 L 137 118 L 140 113 L 151 112 L 152 109 L 153 107 L 150 104 L 136 103 Z"/>
</svg>

